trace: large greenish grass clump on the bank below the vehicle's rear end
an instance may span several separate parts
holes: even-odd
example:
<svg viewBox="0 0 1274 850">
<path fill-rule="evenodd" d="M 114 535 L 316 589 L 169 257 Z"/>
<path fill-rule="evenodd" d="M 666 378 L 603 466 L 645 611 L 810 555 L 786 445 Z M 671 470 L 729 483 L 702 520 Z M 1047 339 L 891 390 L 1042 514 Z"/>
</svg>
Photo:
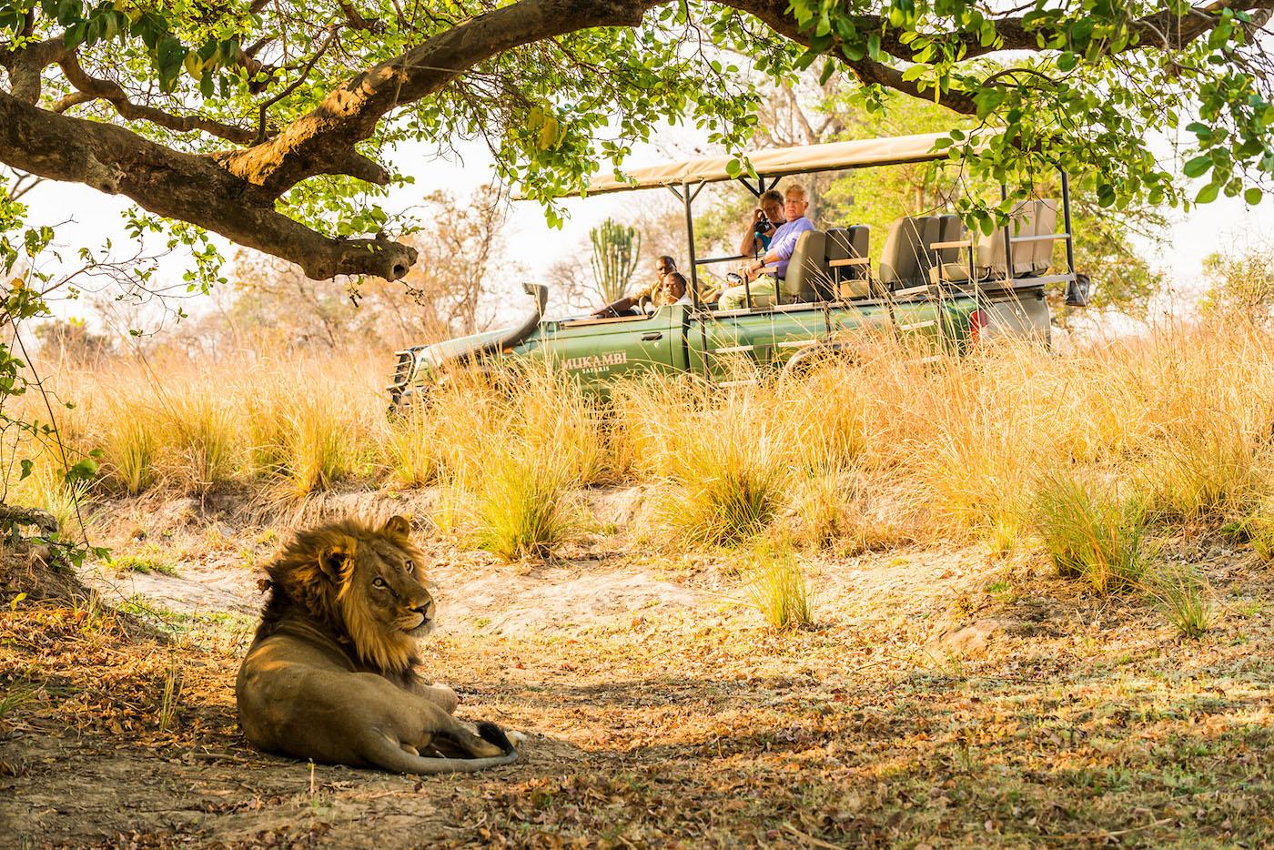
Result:
<svg viewBox="0 0 1274 850">
<path fill-rule="evenodd" d="M 1098 594 L 1127 590 L 1145 573 L 1147 514 L 1136 494 L 1120 497 L 1056 474 L 1036 493 L 1034 528 L 1063 577 Z"/>
</svg>

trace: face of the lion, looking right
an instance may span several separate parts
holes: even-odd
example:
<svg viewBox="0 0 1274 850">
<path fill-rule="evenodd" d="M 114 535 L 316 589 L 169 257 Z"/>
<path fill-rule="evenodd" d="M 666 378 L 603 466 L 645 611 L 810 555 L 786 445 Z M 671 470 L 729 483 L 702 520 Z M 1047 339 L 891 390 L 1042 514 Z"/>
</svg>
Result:
<svg viewBox="0 0 1274 850">
<path fill-rule="evenodd" d="M 433 631 L 433 596 L 414 554 L 383 537 L 364 542 L 354 552 L 354 568 L 345 580 L 353 586 L 343 589 L 341 596 L 361 600 L 363 616 L 377 624 L 377 631 L 412 637 Z"/>
</svg>

